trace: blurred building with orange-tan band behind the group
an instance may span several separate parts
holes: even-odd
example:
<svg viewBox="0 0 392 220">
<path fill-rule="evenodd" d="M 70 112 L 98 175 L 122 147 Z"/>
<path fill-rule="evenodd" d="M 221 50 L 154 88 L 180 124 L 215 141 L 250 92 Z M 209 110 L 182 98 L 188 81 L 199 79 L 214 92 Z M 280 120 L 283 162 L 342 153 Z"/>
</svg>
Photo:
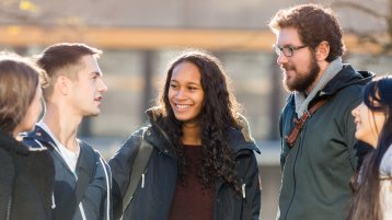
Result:
<svg viewBox="0 0 392 220">
<path fill-rule="evenodd" d="M 211 51 L 222 60 L 262 149 L 262 218 L 269 220 L 280 184 L 277 125 L 288 93 L 267 23 L 279 9 L 300 3 L 334 9 L 346 62 L 390 71 L 392 0 L 0 0 L 0 49 L 30 56 L 54 43 L 81 42 L 104 51 L 100 65 L 108 92 L 101 115 L 85 119 L 80 135 L 106 159 L 146 120 L 169 61 L 186 48 Z"/>
</svg>

